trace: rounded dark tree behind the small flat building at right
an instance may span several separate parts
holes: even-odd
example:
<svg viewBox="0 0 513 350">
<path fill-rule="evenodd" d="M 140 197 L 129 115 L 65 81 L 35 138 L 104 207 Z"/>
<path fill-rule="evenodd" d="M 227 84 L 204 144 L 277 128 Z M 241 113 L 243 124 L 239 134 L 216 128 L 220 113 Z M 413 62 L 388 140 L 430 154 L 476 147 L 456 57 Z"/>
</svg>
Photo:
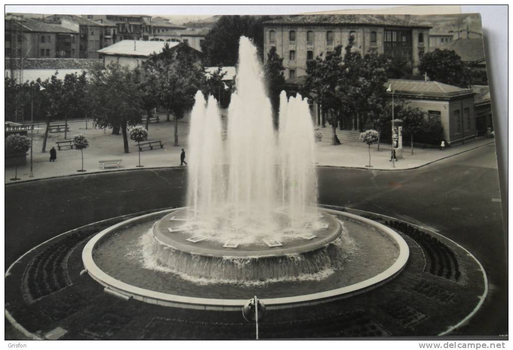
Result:
<svg viewBox="0 0 513 350">
<path fill-rule="evenodd" d="M 454 50 L 427 52 L 419 63 L 419 71 L 427 73 L 430 80 L 440 83 L 465 87 L 465 66 L 461 57 Z"/>
</svg>

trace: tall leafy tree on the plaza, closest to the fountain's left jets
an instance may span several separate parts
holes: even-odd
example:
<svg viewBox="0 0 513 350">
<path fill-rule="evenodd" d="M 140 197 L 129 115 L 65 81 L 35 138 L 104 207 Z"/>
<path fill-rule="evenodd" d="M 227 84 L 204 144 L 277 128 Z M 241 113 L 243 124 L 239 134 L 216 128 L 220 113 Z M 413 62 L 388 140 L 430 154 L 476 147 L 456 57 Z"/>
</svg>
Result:
<svg viewBox="0 0 513 350">
<path fill-rule="evenodd" d="M 178 120 L 194 105 L 194 95 L 204 84 L 205 72 L 195 53 L 185 44 L 173 49 L 166 44 L 144 63 L 148 74 L 158 79 L 159 101 L 174 116 L 174 145 L 178 146 Z"/>
</svg>

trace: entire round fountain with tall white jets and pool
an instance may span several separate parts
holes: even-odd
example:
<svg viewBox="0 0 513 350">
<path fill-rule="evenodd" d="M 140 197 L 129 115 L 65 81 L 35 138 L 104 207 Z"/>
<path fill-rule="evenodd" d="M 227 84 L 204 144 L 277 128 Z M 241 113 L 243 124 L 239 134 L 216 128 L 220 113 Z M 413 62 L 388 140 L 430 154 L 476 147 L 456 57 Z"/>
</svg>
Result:
<svg viewBox="0 0 513 350">
<path fill-rule="evenodd" d="M 100 232 L 84 248 L 89 275 L 147 302 L 223 308 L 243 302 L 226 297 L 245 298 L 246 288 L 290 304 L 290 296 L 329 300 L 396 276 L 408 257 L 396 232 L 318 207 L 308 102 L 282 92 L 274 130 L 257 49 L 245 37 L 235 87 L 226 140 L 218 101 L 195 95 L 187 205 Z"/>
</svg>

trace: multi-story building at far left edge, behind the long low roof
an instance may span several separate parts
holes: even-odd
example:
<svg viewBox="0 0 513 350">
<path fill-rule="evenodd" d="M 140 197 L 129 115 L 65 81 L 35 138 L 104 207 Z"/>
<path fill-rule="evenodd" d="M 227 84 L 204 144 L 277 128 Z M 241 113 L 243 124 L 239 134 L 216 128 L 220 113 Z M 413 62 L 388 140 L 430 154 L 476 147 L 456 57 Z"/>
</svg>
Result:
<svg viewBox="0 0 513 350">
<path fill-rule="evenodd" d="M 31 18 L 6 17 L 5 57 L 78 58 L 78 31 Z"/>
</svg>

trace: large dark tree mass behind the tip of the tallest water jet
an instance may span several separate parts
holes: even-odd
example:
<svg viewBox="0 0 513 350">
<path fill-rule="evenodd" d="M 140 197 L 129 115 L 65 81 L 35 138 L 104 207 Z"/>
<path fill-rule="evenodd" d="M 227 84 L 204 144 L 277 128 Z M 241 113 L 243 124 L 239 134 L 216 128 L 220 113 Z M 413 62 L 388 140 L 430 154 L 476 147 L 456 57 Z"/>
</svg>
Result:
<svg viewBox="0 0 513 350">
<path fill-rule="evenodd" d="M 271 16 L 221 16 L 205 36 L 201 49 L 209 66 L 234 66 L 239 56 L 239 39 L 249 37 L 257 46 L 260 58 L 264 51 L 264 25 Z"/>
</svg>

